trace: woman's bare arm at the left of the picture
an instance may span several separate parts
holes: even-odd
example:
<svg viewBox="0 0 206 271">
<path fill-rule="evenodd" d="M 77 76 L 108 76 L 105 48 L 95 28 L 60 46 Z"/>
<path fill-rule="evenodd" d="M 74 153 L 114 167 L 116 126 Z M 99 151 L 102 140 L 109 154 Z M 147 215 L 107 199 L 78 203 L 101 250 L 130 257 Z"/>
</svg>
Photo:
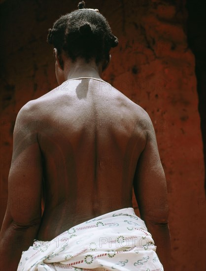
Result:
<svg viewBox="0 0 206 271">
<path fill-rule="evenodd" d="M 0 231 L 0 269 L 16 271 L 22 251 L 33 244 L 41 222 L 42 160 L 27 104 L 19 112 L 13 135 L 8 202 Z"/>
</svg>

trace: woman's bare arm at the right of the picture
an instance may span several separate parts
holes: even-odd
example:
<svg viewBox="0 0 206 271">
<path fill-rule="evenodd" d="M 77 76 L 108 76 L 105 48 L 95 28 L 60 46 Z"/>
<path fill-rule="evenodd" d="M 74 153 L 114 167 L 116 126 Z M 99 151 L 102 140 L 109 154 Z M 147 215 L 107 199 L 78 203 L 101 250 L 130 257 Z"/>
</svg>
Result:
<svg viewBox="0 0 206 271">
<path fill-rule="evenodd" d="M 140 216 L 145 221 L 157 246 L 157 255 L 165 270 L 170 270 L 171 241 L 168 225 L 167 183 L 153 124 L 147 113 L 145 117 L 147 142 L 137 163 L 134 192 Z"/>
</svg>

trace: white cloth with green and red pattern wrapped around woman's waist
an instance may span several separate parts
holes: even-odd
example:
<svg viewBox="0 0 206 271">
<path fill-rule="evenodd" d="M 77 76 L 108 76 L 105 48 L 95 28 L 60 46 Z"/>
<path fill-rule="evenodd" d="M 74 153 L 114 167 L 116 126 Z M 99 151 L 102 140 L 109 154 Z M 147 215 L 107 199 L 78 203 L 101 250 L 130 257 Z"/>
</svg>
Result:
<svg viewBox="0 0 206 271">
<path fill-rule="evenodd" d="M 17 271 L 163 271 L 145 223 L 132 207 L 78 224 L 51 241 L 34 240 Z"/>
</svg>

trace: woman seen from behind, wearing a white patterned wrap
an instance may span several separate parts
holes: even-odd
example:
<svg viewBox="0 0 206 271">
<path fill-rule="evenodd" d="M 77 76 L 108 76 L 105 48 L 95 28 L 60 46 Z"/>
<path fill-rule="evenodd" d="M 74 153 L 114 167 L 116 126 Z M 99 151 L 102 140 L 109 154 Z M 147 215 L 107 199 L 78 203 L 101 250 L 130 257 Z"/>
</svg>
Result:
<svg viewBox="0 0 206 271">
<path fill-rule="evenodd" d="M 17 116 L 17 124 L 35 125 L 15 126 L 12 161 L 36 164 L 29 170 L 13 164 L 8 203 L 35 201 L 28 208 L 8 204 L 2 264 L 16 269 L 24 251 L 18 270 L 163 270 L 170 234 L 154 128 L 140 106 L 101 78 L 118 39 L 97 9 L 86 9 L 84 1 L 78 7 L 47 37 L 59 87 Z M 144 221 L 132 206 L 133 187 Z M 151 234 L 155 244 L 164 240 L 160 260 Z"/>
</svg>

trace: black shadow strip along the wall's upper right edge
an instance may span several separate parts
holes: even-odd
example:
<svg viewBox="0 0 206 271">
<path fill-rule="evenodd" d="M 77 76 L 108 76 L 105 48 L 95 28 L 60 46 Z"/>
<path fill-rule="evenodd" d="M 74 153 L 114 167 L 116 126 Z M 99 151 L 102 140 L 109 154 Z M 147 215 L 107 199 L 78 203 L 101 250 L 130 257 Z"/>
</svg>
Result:
<svg viewBox="0 0 206 271">
<path fill-rule="evenodd" d="M 187 0 L 188 10 L 187 38 L 188 45 L 195 55 L 197 76 L 198 109 L 201 117 L 201 131 L 206 168 L 206 1 Z M 206 189 L 206 177 L 205 177 Z"/>
</svg>

